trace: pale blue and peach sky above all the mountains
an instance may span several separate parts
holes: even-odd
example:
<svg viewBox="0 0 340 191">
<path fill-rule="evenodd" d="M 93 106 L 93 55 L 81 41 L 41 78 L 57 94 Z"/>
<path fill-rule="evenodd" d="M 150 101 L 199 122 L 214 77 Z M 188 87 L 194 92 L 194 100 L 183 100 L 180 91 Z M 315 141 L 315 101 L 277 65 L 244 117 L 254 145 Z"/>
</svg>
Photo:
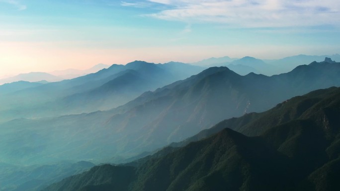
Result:
<svg viewBox="0 0 340 191">
<path fill-rule="evenodd" d="M 0 76 L 340 53 L 339 0 L 0 0 Z"/>
</svg>

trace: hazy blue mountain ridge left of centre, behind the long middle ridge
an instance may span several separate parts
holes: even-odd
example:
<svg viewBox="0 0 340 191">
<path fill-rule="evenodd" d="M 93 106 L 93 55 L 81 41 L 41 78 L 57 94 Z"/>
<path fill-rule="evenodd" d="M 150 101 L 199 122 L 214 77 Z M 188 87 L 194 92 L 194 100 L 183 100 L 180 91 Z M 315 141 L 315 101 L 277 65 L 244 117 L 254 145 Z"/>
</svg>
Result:
<svg viewBox="0 0 340 191">
<path fill-rule="evenodd" d="M 200 71 L 201 67 L 183 63 L 136 61 L 126 65 L 113 64 L 107 69 L 78 78 L 39 87 L 27 86 L 0 95 L 0 121 L 112 109 L 145 91 L 155 90 Z"/>
</svg>

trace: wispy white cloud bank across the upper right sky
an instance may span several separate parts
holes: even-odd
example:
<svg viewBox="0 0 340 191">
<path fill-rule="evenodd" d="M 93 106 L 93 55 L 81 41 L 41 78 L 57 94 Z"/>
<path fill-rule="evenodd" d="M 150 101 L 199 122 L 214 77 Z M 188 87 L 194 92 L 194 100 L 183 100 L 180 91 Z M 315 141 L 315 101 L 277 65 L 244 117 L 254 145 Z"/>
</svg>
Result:
<svg viewBox="0 0 340 191">
<path fill-rule="evenodd" d="M 337 0 L 146 0 L 167 5 L 148 14 L 183 22 L 215 22 L 231 27 L 340 26 Z"/>
</svg>

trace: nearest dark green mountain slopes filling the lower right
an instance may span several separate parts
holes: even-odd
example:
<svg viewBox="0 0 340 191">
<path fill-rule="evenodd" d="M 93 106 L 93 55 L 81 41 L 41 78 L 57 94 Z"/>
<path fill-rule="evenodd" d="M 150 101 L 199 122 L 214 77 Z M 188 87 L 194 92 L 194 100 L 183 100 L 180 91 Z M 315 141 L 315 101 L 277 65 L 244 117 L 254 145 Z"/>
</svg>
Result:
<svg viewBox="0 0 340 191">
<path fill-rule="evenodd" d="M 233 125 L 223 122 L 225 128 L 216 134 L 182 148 L 166 148 L 169 152 L 164 149 L 136 167 L 94 167 L 44 191 L 340 189 L 340 88 L 295 97 L 256 115 L 257 122 L 276 121 L 270 117 L 279 116 L 290 119 L 273 126 L 269 123 L 254 137 L 226 128 Z M 245 117 L 232 120 L 248 125 Z M 250 132 L 252 128 L 248 126 Z"/>
</svg>

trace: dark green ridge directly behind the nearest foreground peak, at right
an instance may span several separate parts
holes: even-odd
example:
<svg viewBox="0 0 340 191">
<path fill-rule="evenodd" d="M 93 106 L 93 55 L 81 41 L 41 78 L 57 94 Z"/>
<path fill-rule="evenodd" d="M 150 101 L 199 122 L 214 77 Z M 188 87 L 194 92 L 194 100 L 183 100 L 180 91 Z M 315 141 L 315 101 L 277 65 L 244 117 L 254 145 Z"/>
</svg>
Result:
<svg viewBox="0 0 340 191">
<path fill-rule="evenodd" d="M 337 97 L 338 94 L 339 88 L 337 87 L 312 91 L 303 96 L 296 96 L 279 103 L 274 108 L 266 112 L 250 113 L 239 118 L 224 120 L 214 127 L 202 130 L 184 141 L 172 143 L 171 145 L 176 147 L 183 146 L 189 142 L 208 137 L 226 127 L 242 132 L 248 136 L 261 135 L 272 127 L 280 126 L 292 120 L 314 119 L 315 123 L 318 122 L 319 126 L 323 126 L 320 122 L 325 121 L 325 123 L 330 123 L 329 119 L 331 119 L 331 123 L 335 123 L 333 125 L 333 128 L 335 128 L 340 125 L 334 122 L 337 118 L 337 114 L 339 113 L 339 111 L 337 111 L 337 107 L 339 108 L 339 105 L 333 106 L 331 111 L 333 115 L 326 116 L 324 112 L 331 110 L 328 106 L 330 104 L 334 104 L 334 102 L 339 99 Z M 311 114 L 318 114 L 322 116 L 322 119 L 312 117 Z M 328 125 L 326 124 L 326 126 Z"/>
</svg>

